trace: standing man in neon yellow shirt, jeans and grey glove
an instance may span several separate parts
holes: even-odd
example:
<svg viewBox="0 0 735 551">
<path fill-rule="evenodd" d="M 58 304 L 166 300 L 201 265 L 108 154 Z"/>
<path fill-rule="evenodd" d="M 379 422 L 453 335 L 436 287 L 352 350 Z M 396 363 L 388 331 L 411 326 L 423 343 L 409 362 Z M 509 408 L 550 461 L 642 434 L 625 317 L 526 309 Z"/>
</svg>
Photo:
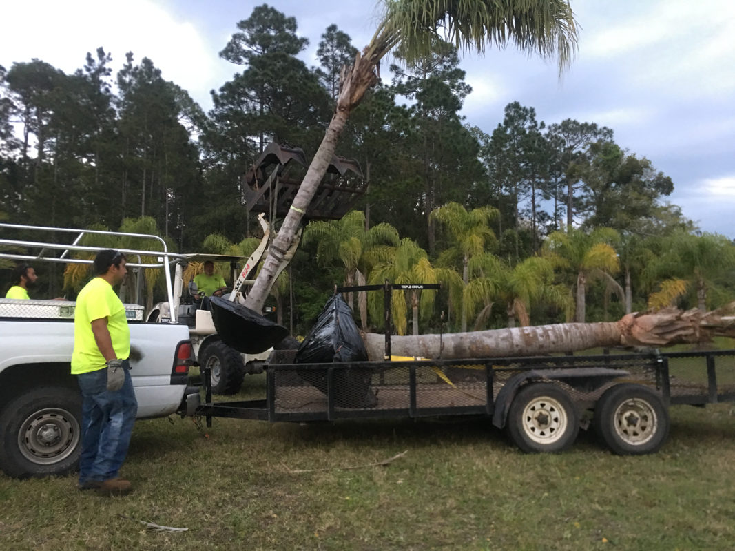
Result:
<svg viewBox="0 0 735 551">
<path fill-rule="evenodd" d="M 130 329 L 125 307 L 112 290 L 123 281 L 125 264 L 123 253 L 100 251 L 93 264 L 96 277 L 79 292 L 74 313 L 71 373 L 82 389 L 79 489 L 104 494 L 126 494 L 132 487 L 118 478 L 137 413 L 128 363 Z"/>
</svg>

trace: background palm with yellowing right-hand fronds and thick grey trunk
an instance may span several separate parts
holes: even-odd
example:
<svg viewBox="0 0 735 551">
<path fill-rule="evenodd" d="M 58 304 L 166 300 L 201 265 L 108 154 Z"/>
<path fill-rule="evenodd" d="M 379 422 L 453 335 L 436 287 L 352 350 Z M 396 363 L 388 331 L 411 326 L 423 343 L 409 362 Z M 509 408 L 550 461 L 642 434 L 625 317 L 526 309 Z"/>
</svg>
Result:
<svg viewBox="0 0 735 551">
<path fill-rule="evenodd" d="M 612 244 L 620 241 L 620 235 L 612 228 L 597 228 L 587 233 L 569 228 L 554 231 L 544 243 L 546 256 L 554 256 L 559 265 L 571 268 L 576 278 L 576 314 L 574 320 L 584 323 L 587 283 L 601 278 L 622 295 L 620 284 L 613 274 L 620 271 L 620 262 Z M 616 287 L 617 286 L 617 287 Z"/>
</svg>

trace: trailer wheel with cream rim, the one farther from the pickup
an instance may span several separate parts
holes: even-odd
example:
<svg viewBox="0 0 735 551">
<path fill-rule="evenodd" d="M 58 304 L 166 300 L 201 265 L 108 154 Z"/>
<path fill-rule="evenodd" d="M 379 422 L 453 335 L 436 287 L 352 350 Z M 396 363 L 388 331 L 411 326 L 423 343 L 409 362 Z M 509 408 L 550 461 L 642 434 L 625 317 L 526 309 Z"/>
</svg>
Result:
<svg viewBox="0 0 735 551">
<path fill-rule="evenodd" d="M 617 455 L 656 453 L 669 435 L 669 412 L 646 386 L 621 383 L 607 389 L 595 406 L 595 432 Z"/>
</svg>

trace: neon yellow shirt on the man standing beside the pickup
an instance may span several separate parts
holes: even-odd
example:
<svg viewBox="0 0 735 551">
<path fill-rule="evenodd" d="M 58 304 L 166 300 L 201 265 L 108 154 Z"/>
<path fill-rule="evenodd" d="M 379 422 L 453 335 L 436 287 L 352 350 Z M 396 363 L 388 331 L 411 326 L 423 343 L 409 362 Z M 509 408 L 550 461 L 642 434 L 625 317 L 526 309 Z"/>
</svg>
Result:
<svg viewBox="0 0 735 551">
<path fill-rule="evenodd" d="M 101 370 L 105 360 L 99 351 L 92 332 L 92 322 L 107 318 L 115 356 L 127 359 L 130 356 L 130 328 L 125 316 L 125 306 L 112 285 L 102 278 L 94 278 L 76 297 L 74 311 L 74 351 L 71 355 L 71 374 L 79 375 Z"/>
</svg>

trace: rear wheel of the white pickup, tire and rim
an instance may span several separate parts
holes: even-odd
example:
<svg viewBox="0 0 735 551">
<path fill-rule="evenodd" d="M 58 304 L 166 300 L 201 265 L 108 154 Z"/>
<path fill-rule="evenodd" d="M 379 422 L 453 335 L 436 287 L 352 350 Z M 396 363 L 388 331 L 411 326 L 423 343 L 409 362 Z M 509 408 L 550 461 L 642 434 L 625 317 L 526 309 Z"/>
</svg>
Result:
<svg viewBox="0 0 735 551">
<path fill-rule="evenodd" d="M 0 442 L 0 469 L 8 476 L 75 471 L 82 453 L 82 393 L 46 386 L 18 396 L 0 414 Z"/>
</svg>

